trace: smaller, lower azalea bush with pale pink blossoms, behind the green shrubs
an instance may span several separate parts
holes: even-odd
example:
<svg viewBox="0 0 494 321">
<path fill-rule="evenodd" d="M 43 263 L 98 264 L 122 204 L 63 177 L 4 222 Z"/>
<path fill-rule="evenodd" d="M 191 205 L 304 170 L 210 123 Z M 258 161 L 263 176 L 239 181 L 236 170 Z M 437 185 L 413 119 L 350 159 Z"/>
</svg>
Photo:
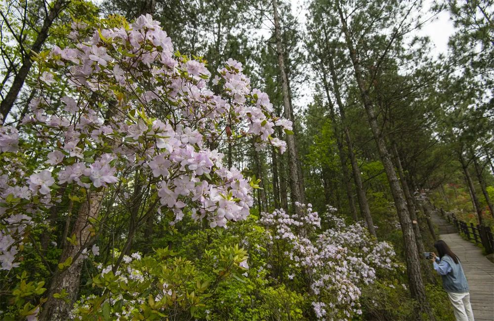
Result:
<svg viewBox="0 0 494 321">
<path fill-rule="evenodd" d="M 272 248 L 277 242 L 288 244 L 287 270 L 304 272 L 318 319 L 351 319 L 362 314 L 362 286 L 375 280 L 376 270 L 398 267 L 392 246 L 377 242 L 361 222 L 347 226 L 333 214 L 332 207 L 323 215 L 331 228 L 316 233 L 321 227 L 318 213 L 311 204 L 296 206 L 300 209 L 298 215 L 284 210 L 261 215 L 261 224 L 270 231 Z M 295 277 L 288 275 L 289 279 Z"/>
</svg>

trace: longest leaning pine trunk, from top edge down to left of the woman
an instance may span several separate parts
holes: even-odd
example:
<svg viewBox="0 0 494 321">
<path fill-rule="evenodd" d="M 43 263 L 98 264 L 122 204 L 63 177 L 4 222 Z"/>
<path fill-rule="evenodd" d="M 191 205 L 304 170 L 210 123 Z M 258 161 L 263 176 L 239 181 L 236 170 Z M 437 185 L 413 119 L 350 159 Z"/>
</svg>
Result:
<svg viewBox="0 0 494 321">
<path fill-rule="evenodd" d="M 403 233 L 403 242 L 405 246 L 405 257 L 407 261 L 407 274 L 409 278 L 412 297 L 418 301 L 418 307 L 420 311 L 425 313 L 430 320 L 435 320 L 425 294 L 425 287 L 422 281 L 422 273 L 420 271 L 420 258 L 418 256 L 417 245 L 415 242 L 415 235 L 412 227 L 412 221 L 410 220 L 410 215 L 408 213 L 406 201 L 403 196 L 403 190 L 401 189 L 400 183 L 398 182 L 398 177 L 396 175 L 388 149 L 386 148 L 386 144 L 384 143 L 384 138 L 381 136 L 379 124 L 377 123 L 377 118 L 375 116 L 371 97 L 369 96 L 369 92 L 366 89 L 364 83 L 364 76 L 362 75 L 362 67 L 357 58 L 355 48 L 352 44 L 352 37 L 350 36 L 350 33 L 348 31 L 346 20 L 343 16 L 343 11 L 341 10 L 339 1 L 336 1 L 336 4 L 341 20 L 342 30 L 345 36 L 348 50 L 350 52 L 350 58 L 353 64 L 355 80 L 357 81 L 357 85 L 362 97 L 362 101 L 364 103 L 364 107 L 367 112 L 372 134 L 377 143 L 379 156 L 384 165 L 384 170 L 386 171 L 389 187 L 391 189 L 391 193 L 393 195 L 396 210 L 398 213 L 398 218 L 400 220 L 400 225 Z M 420 314 L 418 314 L 417 317 L 420 318 Z"/>
</svg>

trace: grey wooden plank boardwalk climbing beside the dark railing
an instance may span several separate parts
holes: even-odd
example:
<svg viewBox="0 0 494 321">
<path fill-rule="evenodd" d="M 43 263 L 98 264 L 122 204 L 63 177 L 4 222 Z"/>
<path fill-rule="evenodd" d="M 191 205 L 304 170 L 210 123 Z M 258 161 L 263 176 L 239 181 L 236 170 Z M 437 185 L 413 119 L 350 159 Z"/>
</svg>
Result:
<svg viewBox="0 0 494 321">
<path fill-rule="evenodd" d="M 441 239 L 456 254 L 470 287 L 470 302 L 476 321 L 494 321 L 494 264 L 482 250 L 456 232 L 453 225 L 437 215 L 432 220 L 439 228 Z"/>
</svg>

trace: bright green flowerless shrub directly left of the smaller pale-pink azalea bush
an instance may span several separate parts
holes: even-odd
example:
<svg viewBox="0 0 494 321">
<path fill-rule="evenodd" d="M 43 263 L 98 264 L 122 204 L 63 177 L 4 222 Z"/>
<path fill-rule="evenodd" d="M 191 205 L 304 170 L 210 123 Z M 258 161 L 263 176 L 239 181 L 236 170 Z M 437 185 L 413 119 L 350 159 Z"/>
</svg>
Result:
<svg viewBox="0 0 494 321">
<path fill-rule="evenodd" d="M 251 212 L 255 212 L 251 211 Z M 185 221 L 185 220 L 184 220 Z M 184 225 L 177 224 L 177 228 Z M 268 235 L 258 224 L 255 215 L 236 222 L 218 233 L 214 229 L 189 232 L 179 247 L 181 256 L 194 262 L 204 274 L 214 274 L 214 262 L 201 253 L 217 251 L 223 244 L 240 244 L 247 250 L 249 267 L 242 275 L 220 282 L 216 291 L 206 302 L 206 320 L 302 320 L 308 305 L 304 294 L 288 284 L 280 284 L 272 277 L 268 266 L 270 259 L 266 249 Z"/>
</svg>

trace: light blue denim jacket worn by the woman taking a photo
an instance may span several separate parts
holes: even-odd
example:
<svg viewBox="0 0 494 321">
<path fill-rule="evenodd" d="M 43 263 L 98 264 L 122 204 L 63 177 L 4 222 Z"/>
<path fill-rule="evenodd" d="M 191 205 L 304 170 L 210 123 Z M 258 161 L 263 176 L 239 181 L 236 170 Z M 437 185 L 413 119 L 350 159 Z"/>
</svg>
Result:
<svg viewBox="0 0 494 321">
<path fill-rule="evenodd" d="M 439 258 L 436 258 L 439 260 Z M 443 287 L 446 292 L 465 293 L 468 292 L 468 282 L 461 263 L 454 263 L 448 254 L 444 255 L 439 263 L 434 262 L 434 269 L 443 278 Z"/>
</svg>

